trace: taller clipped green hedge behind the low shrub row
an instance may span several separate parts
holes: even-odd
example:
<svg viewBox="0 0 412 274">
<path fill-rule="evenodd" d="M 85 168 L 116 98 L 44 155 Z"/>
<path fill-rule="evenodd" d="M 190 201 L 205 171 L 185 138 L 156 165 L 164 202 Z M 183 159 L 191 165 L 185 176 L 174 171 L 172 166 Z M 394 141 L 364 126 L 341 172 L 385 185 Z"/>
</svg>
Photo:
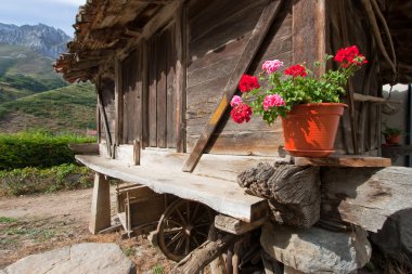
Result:
<svg viewBox="0 0 412 274">
<path fill-rule="evenodd" d="M 75 162 L 68 144 L 94 141 L 94 138 L 73 134 L 53 135 L 44 130 L 0 134 L 0 170 Z"/>
</svg>

